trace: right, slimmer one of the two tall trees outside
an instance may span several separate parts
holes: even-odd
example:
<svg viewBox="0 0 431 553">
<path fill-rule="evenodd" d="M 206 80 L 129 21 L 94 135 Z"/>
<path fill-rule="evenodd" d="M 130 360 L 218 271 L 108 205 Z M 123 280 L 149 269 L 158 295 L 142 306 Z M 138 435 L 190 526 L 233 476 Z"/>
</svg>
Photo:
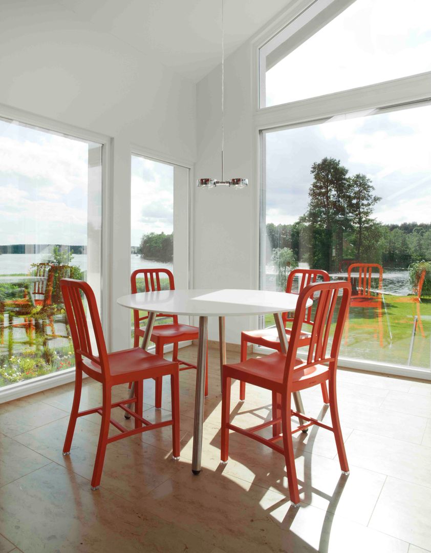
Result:
<svg viewBox="0 0 431 553">
<path fill-rule="evenodd" d="M 374 186 L 371 184 L 371 179 L 366 175 L 356 173 L 356 175 L 349 178 L 346 209 L 351 217 L 351 225 L 355 229 L 356 258 L 358 260 L 362 260 L 362 254 L 364 253 L 364 231 L 375 225 L 371 214 L 374 206 L 380 200 L 381 197 L 374 195 Z"/>
</svg>

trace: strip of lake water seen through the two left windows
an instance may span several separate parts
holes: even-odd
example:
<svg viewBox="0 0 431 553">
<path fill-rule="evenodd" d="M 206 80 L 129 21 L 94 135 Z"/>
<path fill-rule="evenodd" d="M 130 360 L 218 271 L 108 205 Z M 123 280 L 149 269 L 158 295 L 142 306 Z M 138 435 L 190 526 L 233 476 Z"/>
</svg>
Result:
<svg viewBox="0 0 431 553">
<path fill-rule="evenodd" d="M 27 274 L 31 263 L 43 263 L 49 259 L 44 253 L 4 253 L 0 255 L 0 274 L 9 275 L 14 273 Z M 77 265 L 81 270 L 87 270 L 87 254 L 73 255 L 72 265 Z M 141 259 L 140 255 L 130 255 L 130 266 L 135 269 L 164 268 L 172 271 L 172 263 L 160 263 Z"/>
</svg>

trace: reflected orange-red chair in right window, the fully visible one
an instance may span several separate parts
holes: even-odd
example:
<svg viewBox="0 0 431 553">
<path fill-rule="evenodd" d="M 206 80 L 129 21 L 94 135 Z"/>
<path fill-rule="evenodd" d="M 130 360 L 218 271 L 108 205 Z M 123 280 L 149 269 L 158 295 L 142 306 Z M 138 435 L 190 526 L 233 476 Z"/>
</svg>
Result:
<svg viewBox="0 0 431 553">
<path fill-rule="evenodd" d="M 374 273 L 373 273 L 374 269 Z M 378 273 L 377 273 L 378 272 Z M 379 328 L 380 346 L 383 347 L 383 321 L 382 321 L 382 281 L 383 267 L 377 263 L 353 263 L 347 270 L 347 280 L 351 284 L 352 294 L 350 307 L 362 307 L 375 309 Z M 378 289 L 373 295 L 372 279 L 379 278 Z M 347 343 L 350 324 L 349 317 L 346 321 L 344 342 Z M 358 326 L 359 328 L 359 326 Z M 360 328 L 374 328 L 361 325 Z"/>
</svg>

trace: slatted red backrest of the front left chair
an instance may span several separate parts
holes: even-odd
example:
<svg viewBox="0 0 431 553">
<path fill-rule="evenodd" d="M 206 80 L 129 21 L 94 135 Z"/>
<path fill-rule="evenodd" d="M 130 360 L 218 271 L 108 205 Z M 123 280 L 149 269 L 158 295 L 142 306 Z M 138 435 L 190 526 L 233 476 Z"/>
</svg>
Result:
<svg viewBox="0 0 431 553">
<path fill-rule="evenodd" d="M 77 366 L 81 363 L 82 357 L 87 357 L 101 366 L 105 380 L 109 380 L 111 375 L 109 373 L 108 353 L 103 337 L 96 298 L 91 286 L 82 280 L 65 278 L 60 280 L 60 288 L 63 294 L 67 320 L 72 335 Z M 87 316 L 81 294 L 85 296 L 87 300 L 92 330 L 96 338 L 98 350 L 96 354 L 92 351 L 90 329 L 88 328 Z"/>
</svg>

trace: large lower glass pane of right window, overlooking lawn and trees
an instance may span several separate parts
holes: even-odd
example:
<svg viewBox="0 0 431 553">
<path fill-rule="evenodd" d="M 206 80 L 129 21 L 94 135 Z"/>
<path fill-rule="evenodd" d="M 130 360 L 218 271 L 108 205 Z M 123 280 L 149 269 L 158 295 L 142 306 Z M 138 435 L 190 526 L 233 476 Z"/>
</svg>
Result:
<svg viewBox="0 0 431 553">
<path fill-rule="evenodd" d="M 351 270 L 343 357 L 430 369 L 430 124 L 428 105 L 264 135 L 262 287 L 282 290 L 296 267 L 382 267 L 366 290 Z"/>
</svg>

